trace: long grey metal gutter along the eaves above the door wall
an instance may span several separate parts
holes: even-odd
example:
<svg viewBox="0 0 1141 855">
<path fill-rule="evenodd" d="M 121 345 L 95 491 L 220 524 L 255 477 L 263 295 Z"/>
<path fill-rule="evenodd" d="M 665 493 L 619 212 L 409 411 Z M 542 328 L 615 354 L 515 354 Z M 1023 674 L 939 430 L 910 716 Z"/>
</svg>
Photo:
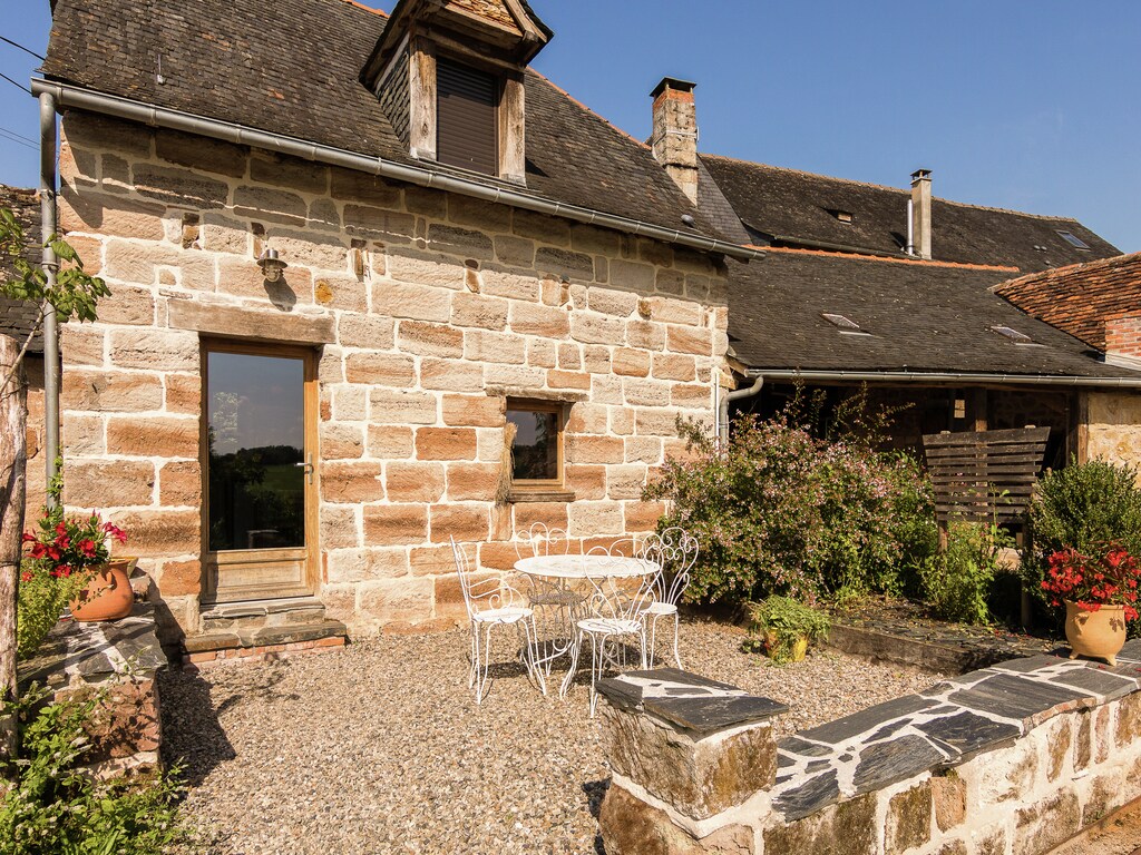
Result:
<svg viewBox="0 0 1141 855">
<path fill-rule="evenodd" d="M 139 122 L 152 128 L 165 128 L 186 133 L 196 133 L 202 137 L 220 139 L 240 146 L 262 148 L 307 161 L 343 166 L 357 172 L 366 172 L 396 181 L 405 181 L 420 187 L 431 187 L 438 190 L 484 199 L 485 202 L 511 205 L 512 207 L 521 207 L 526 211 L 535 211 L 536 213 L 551 217 L 561 217 L 590 226 L 599 226 L 630 235 L 649 237 L 664 243 L 698 250 L 699 252 L 727 255 L 737 261 L 752 261 L 753 259 L 764 256 L 764 252 L 761 250 L 705 237 L 693 231 L 671 229 L 640 220 L 632 220 L 626 217 L 594 211 L 589 207 L 552 202 L 551 199 L 532 196 L 509 187 L 500 187 L 474 181 L 460 176 L 445 174 L 428 166 L 397 163 L 396 161 L 387 161 L 383 157 L 370 157 L 369 155 L 348 152 L 342 148 L 307 142 L 296 137 L 285 137 L 280 133 L 246 128 L 233 122 L 224 122 L 177 109 L 156 107 L 130 98 L 95 92 L 90 89 L 82 89 L 65 83 L 33 80 L 32 91 L 41 97 L 44 92 L 51 93 L 56 99 L 57 108 L 60 109 L 66 107 L 86 109 L 92 113 Z"/>
</svg>

